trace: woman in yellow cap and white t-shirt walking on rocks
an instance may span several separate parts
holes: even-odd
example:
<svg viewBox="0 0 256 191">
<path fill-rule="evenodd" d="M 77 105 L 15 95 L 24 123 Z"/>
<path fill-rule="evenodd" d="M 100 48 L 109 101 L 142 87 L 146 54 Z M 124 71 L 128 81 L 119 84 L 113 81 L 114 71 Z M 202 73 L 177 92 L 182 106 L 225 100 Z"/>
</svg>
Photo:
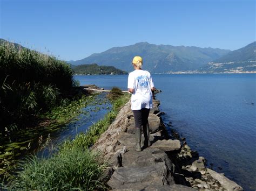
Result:
<svg viewBox="0 0 256 191">
<path fill-rule="evenodd" d="M 132 94 L 131 109 L 135 121 L 136 151 L 142 151 L 140 141 L 143 135 L 145 147 L 150 146 L 150 129 L 147 118 L 150 108 L 152 108 L 152 91 L 155 90 L 151 75 L 142 69 L 143 60 L 140 56 L 135 56 L 132 60 L 134 71 L 128 76 L 128 91 Z"/>
</svg>

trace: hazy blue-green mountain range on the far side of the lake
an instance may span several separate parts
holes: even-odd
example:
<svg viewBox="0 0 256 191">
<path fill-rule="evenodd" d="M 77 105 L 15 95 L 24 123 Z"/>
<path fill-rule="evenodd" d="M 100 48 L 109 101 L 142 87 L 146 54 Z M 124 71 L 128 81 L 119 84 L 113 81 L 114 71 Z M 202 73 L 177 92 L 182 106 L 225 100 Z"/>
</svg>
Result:
<svg viewBox="0 0 256 191">
<path fill-rule="evenodd" d="M 0 39 L 0 44 L 8 41 Z M 25 48 L 14 44 L 17 49 Z M 133 56 L 143 57 L 143 69 L 151 73 L 256 73 L 256 41 L 235 51 L 219 48 L 200 48 L 195 46 L 154 45 L 137 43 L 124 47 L 113 47 L 105 52 L 92 54 L 77 61 L 67 61 L 69 65 L 84 70 L 87 64 L 97 63 L 97 67 L 113 66 L 127 72 L 133 67 Z M 89 68 L 95 69 L 96 65 Z M 75 67 L 75 66 L 74 66 Z M 116 68 L 114 68 L 115 71 Z M 104 68 L 109 72 L 109 69 Z M 99 69 L 99 70 L 102 70 Z M 120 73 L 119 70 L 117 73 Z M 121 72 L 123 73 L 123 72 Z"/>
</svg>

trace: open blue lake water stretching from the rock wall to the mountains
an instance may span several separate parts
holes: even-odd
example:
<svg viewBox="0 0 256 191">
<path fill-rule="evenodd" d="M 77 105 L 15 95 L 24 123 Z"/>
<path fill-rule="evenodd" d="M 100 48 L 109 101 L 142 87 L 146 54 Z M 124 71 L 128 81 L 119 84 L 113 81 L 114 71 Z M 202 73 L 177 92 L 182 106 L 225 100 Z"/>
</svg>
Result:
<svg viewBox="0 0 256 191">
<path fill-rule="evenodd" d="M 186 137 L 207 165 L 256 189 L 256 74 L 152 75 L 164 122 Z M 127 87 L 127 75 L 75 76 L 80 84 Z"/>
</svg>

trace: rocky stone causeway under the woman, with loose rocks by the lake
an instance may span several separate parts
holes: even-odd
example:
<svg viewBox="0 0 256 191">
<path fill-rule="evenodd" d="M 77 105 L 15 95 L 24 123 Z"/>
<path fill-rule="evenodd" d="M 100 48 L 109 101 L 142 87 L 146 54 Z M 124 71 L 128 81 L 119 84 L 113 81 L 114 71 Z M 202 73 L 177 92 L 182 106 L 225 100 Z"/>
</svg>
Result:
<svg viewBox="0 0 256 191">
<path fill-rule="evenodd" d="M 93 150 L 103 153 L 109 168 L 102 181 L 112 190 L 243 190 L 224 174 L 206 168 L 204 157 L 185 140 L 172 140 L 161 121 L 160 102 L 150 111 L 152 146 L 134 150 L 134 118 L 127 102 L 116 120 L 98 139 Z M 142 145 L 144 138 L 142 137 Z"/>
</svg>

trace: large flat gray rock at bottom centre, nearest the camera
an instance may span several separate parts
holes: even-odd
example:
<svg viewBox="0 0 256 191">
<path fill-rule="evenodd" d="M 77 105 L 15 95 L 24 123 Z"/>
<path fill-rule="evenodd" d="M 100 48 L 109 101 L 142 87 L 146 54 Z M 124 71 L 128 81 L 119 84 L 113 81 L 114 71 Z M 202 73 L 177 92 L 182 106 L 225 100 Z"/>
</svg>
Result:
<svg viewBox="0 0 256 191">
<path fill-rule="evenodd" d="M 140 186 L 173 184 L 173 177 L 163 162 L 153 166 L 120 167 L 107 182 L 112 189 L 138 190 Z M 138 188 L 138 186 L 140 188 Z"/>
</svg>

